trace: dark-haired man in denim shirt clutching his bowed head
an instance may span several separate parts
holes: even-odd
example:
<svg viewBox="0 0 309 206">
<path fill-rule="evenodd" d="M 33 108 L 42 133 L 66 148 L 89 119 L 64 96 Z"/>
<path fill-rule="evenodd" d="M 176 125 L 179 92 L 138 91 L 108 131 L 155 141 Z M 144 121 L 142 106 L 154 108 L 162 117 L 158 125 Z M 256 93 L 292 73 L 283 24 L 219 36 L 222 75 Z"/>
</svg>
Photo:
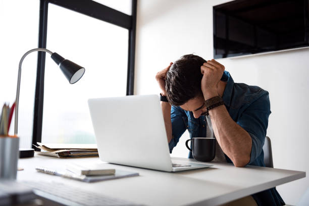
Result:
<svg viewBox="0 0 309 206">
<path fill-rule="evenodd" d="M 214 161 L 236 167 L 265 167 L 263 144 L 271 114 L 269 94 L 258 86 L 234 83 L 224 70 L 215 60 L 184 55 L 157 73 L 170 152 L 188 129 L 190 138 L 216 138 Z M 189 158 L 193 158 L 192 152 Z M 234 204 L 285 203 L 272 188 Z"/>
</svg>

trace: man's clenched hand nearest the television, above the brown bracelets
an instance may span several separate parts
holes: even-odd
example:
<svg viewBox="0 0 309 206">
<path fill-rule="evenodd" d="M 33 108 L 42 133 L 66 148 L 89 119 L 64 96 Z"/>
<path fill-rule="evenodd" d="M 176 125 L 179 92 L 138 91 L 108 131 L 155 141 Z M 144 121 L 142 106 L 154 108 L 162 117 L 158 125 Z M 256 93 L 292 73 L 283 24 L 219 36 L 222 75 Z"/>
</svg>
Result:
<svg viewBox="0 0 309 206">
<path fill-rule="evenodd" d="M 223 75 L 224 69 L 224 66 L 214 59 L 205 62 L 200 67 L 200 72 L 203 75 L 201 90 L 205 100 L 218 96 L 217 85 Z"/>
</svg>

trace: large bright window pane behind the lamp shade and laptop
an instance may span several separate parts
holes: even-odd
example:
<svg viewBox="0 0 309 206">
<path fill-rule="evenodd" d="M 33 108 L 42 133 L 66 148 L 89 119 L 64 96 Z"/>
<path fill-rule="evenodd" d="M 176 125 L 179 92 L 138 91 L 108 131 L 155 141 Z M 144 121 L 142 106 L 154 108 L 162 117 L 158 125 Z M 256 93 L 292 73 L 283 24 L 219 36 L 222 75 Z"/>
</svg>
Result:
<svg viewBox="0 0 309 206">
<path fill-rule="evenodd" d="M 42 142 L 95 143 L 87 100 L 126 95 L 128 33 L 105 21 L 48 6 L 46 48 L 86 71 L 71 85 L 46 55 Z"/>
</svg>

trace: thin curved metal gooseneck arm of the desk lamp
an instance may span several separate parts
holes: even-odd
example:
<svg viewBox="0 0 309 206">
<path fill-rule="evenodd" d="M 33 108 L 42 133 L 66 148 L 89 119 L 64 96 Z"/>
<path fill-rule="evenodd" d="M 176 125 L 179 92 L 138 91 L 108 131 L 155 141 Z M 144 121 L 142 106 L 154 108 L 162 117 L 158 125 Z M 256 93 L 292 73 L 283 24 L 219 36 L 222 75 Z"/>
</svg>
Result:
<svg viewBox="0 0 309 206">
<path fill-rule="evenodd" d="M 16 99 L 15 99 L 15 123 L 14 123 L 14 134 L 17 135 L 17 128 L 18 128 L 18 102 L 19 102 L 19 90 L 20 90 L 20 77 L 21 77 L 21 66 L 23 63 L 23 60 L 25 59 L 25 57 L 27 55 L 29 55 L 32 52 L 47 52 L 50 55 L 52 55 L 53 53 L 50 52 L 50 50 L 46 49 L 46 48 L 34 48 L 29 50 L 28 52 L 26 52 L 23 57 L 20 59 L 19 61 L 19 68 L 18 68 L 18 77 L 17 77 L 17 89 L 16 89 Z"/>
</svg>

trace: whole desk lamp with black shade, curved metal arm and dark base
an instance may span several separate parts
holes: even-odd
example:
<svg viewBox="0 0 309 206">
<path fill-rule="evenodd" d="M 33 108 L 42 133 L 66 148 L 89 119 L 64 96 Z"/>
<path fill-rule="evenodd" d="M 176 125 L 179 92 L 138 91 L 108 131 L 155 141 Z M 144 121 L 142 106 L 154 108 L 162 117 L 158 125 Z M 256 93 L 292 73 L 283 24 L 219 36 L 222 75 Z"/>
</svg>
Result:
<svg viewBox="0 0 309 206">
<path fill-rule="evenodd" d="M 85 68 L 71 62 L 70 60 L 66 60 L 57 53 L 52 53 L 50 50 L 46 48 L 34 48 L 29 50 L 24 54 L 19 62 L 18 69 L 18 79 L 17 79 L 17 90 L 16 90 L 16 100 L 15 100 L 15 124 L 14 124 L 14 134 L 17 136 L 18 130 L 18 102 L 19 102 L 19 90 L 20 90 L 20 77 L 21 77 L 21 66 L 25 57 L 32 52 L 46 52 L 51 55 L 51 58 L 56 62 L 56 64 L 60 67 L 63 74 L 66 76 L 70 84 L 74 84 L 77 82 L 85 73 Z M 34 156 L 34 149 L 20 149 L 20 157 L 28 158 Z"/>
</svg>

